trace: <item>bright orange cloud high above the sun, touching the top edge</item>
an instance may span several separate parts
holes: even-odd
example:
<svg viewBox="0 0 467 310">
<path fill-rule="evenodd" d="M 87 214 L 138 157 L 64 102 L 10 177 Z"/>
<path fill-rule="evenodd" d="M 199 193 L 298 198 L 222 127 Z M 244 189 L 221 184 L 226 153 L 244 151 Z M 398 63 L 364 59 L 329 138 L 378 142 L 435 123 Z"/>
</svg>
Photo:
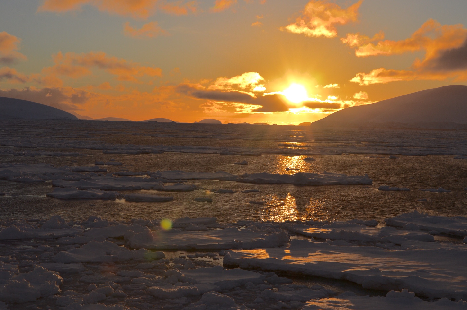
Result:
<svg viewBox="0 0 467 310">
<path fill-rule="evenodd" d="M 349 21 L 357 21 L 358 8 L 362 1 L 342 9 L 337 4 L 325 0 L 311 0 L 297 21 L 282 27 L 281 30 L 306 36 L 333 38 L 337 36 L 336 24 L 344 25 Z"/>
</svg>

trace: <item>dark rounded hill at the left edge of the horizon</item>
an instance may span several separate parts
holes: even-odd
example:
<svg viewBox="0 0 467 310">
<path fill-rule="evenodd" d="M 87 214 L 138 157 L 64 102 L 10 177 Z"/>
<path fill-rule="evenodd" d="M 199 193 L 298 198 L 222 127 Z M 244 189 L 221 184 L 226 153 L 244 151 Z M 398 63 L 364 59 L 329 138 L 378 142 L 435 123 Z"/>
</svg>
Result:
<svg viewBox="0 0 467 310">
<path fill-rule="evenodd" d="M 78 119 L 71 113 L 32 101 L 0 97 L 0 119 Z"/>
</svg>

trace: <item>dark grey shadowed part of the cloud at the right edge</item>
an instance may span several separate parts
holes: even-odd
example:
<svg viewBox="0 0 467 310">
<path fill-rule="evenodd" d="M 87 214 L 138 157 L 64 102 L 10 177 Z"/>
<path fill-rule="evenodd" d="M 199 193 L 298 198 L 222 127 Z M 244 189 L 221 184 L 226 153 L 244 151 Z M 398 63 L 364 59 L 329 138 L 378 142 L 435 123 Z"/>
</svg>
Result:
<svg viewBox="0 0 467 310">
<path fill-rule="evenodd" d="M 456 71 L 467 69 L 467 40 L 460 48 L 442 51 L 432 59 L 428 67 L 441 71 Z"/>
</svg>

